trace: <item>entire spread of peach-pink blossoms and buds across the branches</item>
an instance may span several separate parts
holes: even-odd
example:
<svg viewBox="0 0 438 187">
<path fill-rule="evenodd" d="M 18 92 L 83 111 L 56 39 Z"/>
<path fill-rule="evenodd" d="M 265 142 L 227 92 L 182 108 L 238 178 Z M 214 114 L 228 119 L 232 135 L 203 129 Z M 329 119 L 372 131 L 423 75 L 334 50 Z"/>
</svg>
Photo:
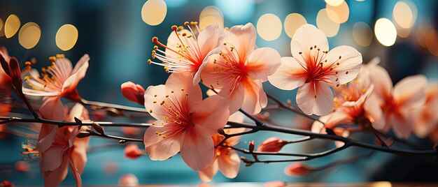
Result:
<svg viewBox="0 0 438 187">
<path fill-rule="evenodd" d="M 297 89 L 299 109 L 320 116 L 311 128 L 315 133 L 332 131 L 347 137 L 352 132 L 339 125 L 358 124 L 362 130 L 392 130 L 402 139 L 414 133 L 438 141 L 438 117 L 433 114 L 438 110 L 437 84 L 428 86 L 423 75 L 414 75 L 393 86 L 379 59 L 362 65 L 362 55 L 351 46 L 330 50 L 325 34 L 311 24 L 304 24 L 292 37 L 292 57 L 281 57 L 270 47 L 256 47 L 257 34 L 250 23 L 229 29 L 211 24 L 199 29 L 197 22 L 185 22 L 171 29 L 166 44 L 157 37 L 152 39 L 157 45 L 148 60 L 171 73 L 165 84 L 146 89 L 133 82 L 121 85 L 123 96 L 143 105 L 155 119 L 143 135 L 144 151 L 151 160 L 167 160 L 179 153 L 202 181 L 211 181 L 218 170 L 225 177 L 236 177 L 241 159 L 231 147 L 239 143 L 239 136 L 226 135 L 245 129 L 225 126 L 228 121 L 243 122 L 243 112 L 255 115 L 267 107 L 264 82 L 278 89 Z M 3 48 L 0 52 L 4 69 L 0 84 L 12 84 L 26 96 L 43 97 L 39 107 L 43 119 L 90 121 L 76 89 L 89 66 L 87 54 L 74 68 L 62 54 L 50 57 L 50 66 L 41 73 L 31 68 L 32 62 L 26 62 L 21 76 L 14 79 L 16 59 Z M 18 79 L 24 80 L 23 87 L 17 88 L 22 84 L 14 82 Z M 209 88 L 206 98 L 202 85 Z M 62 97 L 76 104 L 64 106 Z M 1 116 L 7 113 L 0 111 Z M 23 146 L 23 154 L 41 158 L 46 186 L 57 186 L 68 167 L 81 186 L 89 137 L 76 138 L 80 131 L 74 126 L 42 124 L 36 145 Z M 257 151 L 278 152 L 289 143 L 271 137 Z M 137 158 L 143 151 L 130 144 L 125 155 Z M 307 172 L 301 165 L 290 168 L 289 172 Z"/>
</svg>

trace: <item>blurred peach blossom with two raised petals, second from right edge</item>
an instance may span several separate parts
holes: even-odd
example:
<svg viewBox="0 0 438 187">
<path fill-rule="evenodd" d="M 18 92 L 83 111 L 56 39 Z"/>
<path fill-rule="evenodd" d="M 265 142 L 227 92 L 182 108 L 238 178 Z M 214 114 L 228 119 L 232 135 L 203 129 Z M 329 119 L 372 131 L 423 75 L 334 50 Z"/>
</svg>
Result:
<svg viewBox="0 0 438 187">
<path fill-rule="evenodd" d="M 374 66 L 371 71 L 374 84 L 372 97 L 379 103 L 386 121 L 383 132 L 392 128 L 397 137 L 407 139 L 414 124 L 414 115 L 411 113 L 425 103 L 428 80 L 423 75 L 413 75 L 405 77 L 393 87 L 384 68 Z"/>
</svg>

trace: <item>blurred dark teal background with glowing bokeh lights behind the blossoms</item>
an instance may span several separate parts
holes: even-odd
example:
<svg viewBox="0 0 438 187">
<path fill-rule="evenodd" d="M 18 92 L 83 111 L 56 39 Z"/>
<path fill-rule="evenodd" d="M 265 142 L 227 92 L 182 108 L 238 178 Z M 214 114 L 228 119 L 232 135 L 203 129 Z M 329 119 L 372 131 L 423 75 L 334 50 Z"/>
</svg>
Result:
<svg viewBox="0 0 438 187">
<path fill-rule="evenodd" d="M 257 29 L 257 46 L 273 47 L 281 56 L 290 56 L 290 38 L 302 24 L 316 25 L 328 37 L 330 48 L 351 45 L 362 53 L 364 63 L 374 57 L 390 72 L 394 82 L 408 75 L 423 74 L 438 79 L 438 1 L 374 1 L 374 0 L 70 0 L 70 1 L 0 1 L 0 45 L 10 56 L 22 62 L 36 59 L 35 67 L 50 64 L 48 57 L 65 54 L 76 63 L 90 54 L 90 67 L 78 85 L 87 100 L 141 107 L 122 97 L 120 84 L 136 82 L 143 87 L 164 84 L 167 73 L 150 66 L 153 43 L 157 36 L 163 42 L 171 26 L 197 21 L 199 27 L 217 23 L 223 27 L 251 22 Z M 295 103 L 295 91 L 279 91 L 269 82 L 268 93 Z M 289 113 L 271 114 L 276 123 L 295 128 L 309 128 L 309 121 Z M 276 116 L 278 115 L 278 116 Z M 106 120 L 126 121 L 111 118 Z M 139 120 L 139 119 L 136 119 Z M 146 120 L 146 119 L 145 119 Z M 294 125 L 290 124 L 295 120 Z M 295 125 L 299 124 L 299 126 Z M 120 129 L 110 131 L 119 133 Z M 272 133 L 243 137 L 260 143 Z M 277 137 L 292 139 L 288 135 Z M 369 138 L 364 135 L 364 138 Z M 27 161 L 28 172 L 17 172 L 15 163 L 24 137 L 2 135 L 0 140 L 0 180 L 14 184 L 43 184 L 38 161 Z M 137 137 L 142 137 L 141 133 Z M 426 144 L 421 140 L 413 140 Z M 124 158 L 123 145 L 113 140 L 92 137 L 88 162 L 82 175 L 85 185 L 118 184 L 124 174 L 134 174 L 141 184 L 197 184 L 197 172 L 179 156 L 153 162 L 148 156 L 136 160 Z M 311 152 L 327 146 L 312 142 L 288 146 L 285 151 Z M 332 146 L 332 145 L 328 145 Z M 141 149 L 143 146 L 139 144 Z M 339 158 L 367 154 L 362 149 L 347 149 L 339 154 L 312 160 L 309 165 L 325 165 Z M 437 164 L 433 160 L 404 158 L 376 153 L 348 165 L 312 173 L 306 177 L 290 177 L 283 169 L 289 163 L 241 165 L 236 179 L 218 174 L 213 182 L 224 181 L 438 181 Z M 71 174 L 62 184 L 74 184 Z"/>
</svg>

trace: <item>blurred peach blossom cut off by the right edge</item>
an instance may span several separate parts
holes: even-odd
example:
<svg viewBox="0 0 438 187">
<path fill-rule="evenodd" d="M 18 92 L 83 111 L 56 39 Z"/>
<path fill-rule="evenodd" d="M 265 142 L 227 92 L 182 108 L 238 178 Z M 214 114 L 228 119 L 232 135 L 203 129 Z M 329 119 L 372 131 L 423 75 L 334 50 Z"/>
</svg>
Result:
<svg viewBox="0 0 438 187">
<path fill-rule="evenodd" d="M 415 112 L 414 134 L 425 138 L 430 136 L 433 142 L 437 142 L 434 132 L 438 130 L 438 83 L 434 82 L 426 89 L 425 104 Z"/>
</svg>

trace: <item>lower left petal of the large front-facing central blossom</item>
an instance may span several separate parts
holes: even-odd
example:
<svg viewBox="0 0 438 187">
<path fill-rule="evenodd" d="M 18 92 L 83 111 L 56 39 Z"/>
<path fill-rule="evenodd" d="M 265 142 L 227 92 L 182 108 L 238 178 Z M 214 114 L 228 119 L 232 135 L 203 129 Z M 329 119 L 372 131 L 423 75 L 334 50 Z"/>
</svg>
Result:
<svg viewBox="0 0 438 187">
<path fill-rule="evenodd" d="M 175 127 L 173 124 L 167 124 L 162 127 L 150 126 L 146 130 L 143 142 L 150 160 L 167 160 L 180 151 L 183 136 Z"/>
</svg>

